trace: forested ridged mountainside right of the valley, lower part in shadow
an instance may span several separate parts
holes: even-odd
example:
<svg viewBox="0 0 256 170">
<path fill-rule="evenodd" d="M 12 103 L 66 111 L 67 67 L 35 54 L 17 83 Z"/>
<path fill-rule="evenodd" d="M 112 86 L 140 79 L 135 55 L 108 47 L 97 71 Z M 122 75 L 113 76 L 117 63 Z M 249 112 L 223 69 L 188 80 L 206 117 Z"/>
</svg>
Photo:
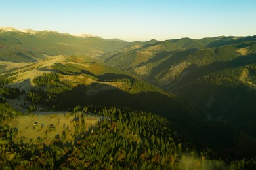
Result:
<svg viewBox="0 0 256 170">
<path fill-rule="evenodd" d="M 255 36 L 175 39 L 100 59 L 190 99 L 209 120 L 232 122 L 256 136 L 247 124 L 256 120 L 255 43 Z"/>
</svg>

